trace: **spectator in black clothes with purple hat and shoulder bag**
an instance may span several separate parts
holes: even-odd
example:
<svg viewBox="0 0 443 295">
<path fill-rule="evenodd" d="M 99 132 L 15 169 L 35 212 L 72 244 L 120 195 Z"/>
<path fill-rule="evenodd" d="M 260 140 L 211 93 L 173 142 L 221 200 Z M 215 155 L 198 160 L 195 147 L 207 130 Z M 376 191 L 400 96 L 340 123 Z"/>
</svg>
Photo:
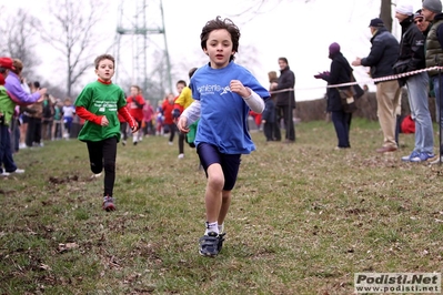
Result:
<svg viewBox="0 0 443 295">
<path fill-rule="evenodd" d="M 316 79 L 323 79 L 328 81 L 328 85 L 335 85 L 341 83 L 348 83 L 351 81 L 352 68 L 348 60 L 343 57 L 340 51 L 340 44 L 334 42 L 329 47 L 329 58 L 332 60 L 331 70 L 314 75 Z M 331 120 L 334 124 L 336 138 L 339 144 L 336 149 L 351 148 L 349 140 L 352 113 L 343 111 L 342 101 L 338 88 L 328 88 L 328 108 L 326 111 L 331 112 Z"/>
</svg>

